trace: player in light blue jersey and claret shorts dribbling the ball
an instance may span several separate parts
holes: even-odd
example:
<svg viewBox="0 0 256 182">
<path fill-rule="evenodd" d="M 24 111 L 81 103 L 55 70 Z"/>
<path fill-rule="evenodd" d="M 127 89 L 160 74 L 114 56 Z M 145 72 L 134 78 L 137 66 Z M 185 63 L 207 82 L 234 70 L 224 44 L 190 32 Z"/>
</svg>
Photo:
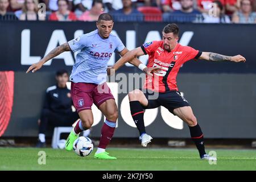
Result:
<svg viewBox="0 0 256 182">
<path fill-rule="evenodd" d="M 73 142 L 79 137 L 79 133 L 93 125 L 91 107 L 94 103 L 106 117 L 101 129 L 100 144 L 94 154 L 94 157 L 98 159 L 116 159 L 109 156 L 109 153 L 105 151 L 113 137 L 118 117 L 117 105 L 106 84 L 106 75 L 108 61 L 112 54 L 118 52 L 123 56 L 128 52 L 121 40 L 111 34 L 113 24 L 113 18 L 110 14 L 101 14 L 96 23 L 97 30 L 56 47 L 27 70 L 27 73 L 37 71 L 48 60 L 64 51 L 80 51 L 77 53 L 76 63 L 73 65 L 70 76 L 73 105 L 79 113 L 80 121 L 69 134 L 65 148 L 72 150 Z M 129 63 L 143 68 L 142 70 L 150 75 L 157 70 L 156 68 L 146 68 L 146 65 L 143 65 L 137 58 L 132 59 Z"/>
</svg>

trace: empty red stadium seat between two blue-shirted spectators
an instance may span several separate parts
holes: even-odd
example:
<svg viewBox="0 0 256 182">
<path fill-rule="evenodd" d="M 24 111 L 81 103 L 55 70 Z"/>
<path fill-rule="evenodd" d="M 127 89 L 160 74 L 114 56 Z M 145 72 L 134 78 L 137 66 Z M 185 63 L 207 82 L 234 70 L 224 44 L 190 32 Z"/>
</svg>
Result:
<svg viewBox="0 0 256 182">
<path fill-rule="evenodd" d="M 137 10 L 144 15 L 145 22 L 162 22 L 162 11 L 158 7 L 142 6 Z"/>
</svg>

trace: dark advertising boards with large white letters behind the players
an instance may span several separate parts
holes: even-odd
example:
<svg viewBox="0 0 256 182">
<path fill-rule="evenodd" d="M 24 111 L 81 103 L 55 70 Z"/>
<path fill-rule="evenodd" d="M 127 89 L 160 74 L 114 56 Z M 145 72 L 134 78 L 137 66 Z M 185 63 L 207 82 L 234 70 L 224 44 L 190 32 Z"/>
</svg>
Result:
<svg viewBox="0 0 256 182">
<path fill-rule="evenodd" d="M 117 34 L 127 48 L 161 39 L 164 23 L 115 23 Z M 241 54 L 246 63 L 210 63 L 188 61 L 180 69 L 177 84 L 191 104 L 204 131 L 205 138 L 256 138 L 256 26 L 235 24 L 178 24 L 180 43 L 200 51 L 224 55 Z M 71 72 L 75 61 L 71 52 L 53 59 L 39 72 L 26 74 L 28 66 L 39 61 L 47 52 L 76 36 L 92 31 L 95 23 L 84 22 L 0 22 L 0 71 L 15 71 L 14 103 L 9 126 L 3 136 L 36 136 L 37 119 L 44 92 L 54 82 L 55 71 L 66 68 Z M 118 55 L 114 55 L 112 65 Z M 144 63 L 147 57 L 140 57 Z M 118 73 L 141 73 L 125 65 Z M 131 81 L 131 80 L 129 80 Z M 116 80 L 121 84 L 121 81 Z M 114 137 L 138 137 L 131 120 L 127 92 L 118 94 L 118 84 L 110 83 L 119 109 L 118 127 Z M 100 137 L 103 115 L 93 109 L 93 137 Z M 189 138 L 188 127 L 164 108 L 147 110 L 146 130 L 153 137 Z"/>
</svg>

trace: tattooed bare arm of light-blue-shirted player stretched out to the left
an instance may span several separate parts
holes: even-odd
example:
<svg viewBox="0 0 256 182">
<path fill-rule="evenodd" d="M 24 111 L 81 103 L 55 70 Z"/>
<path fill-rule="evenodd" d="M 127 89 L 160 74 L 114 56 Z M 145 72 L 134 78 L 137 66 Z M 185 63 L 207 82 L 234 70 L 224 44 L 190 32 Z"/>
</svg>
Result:
<svg viewBox="0 0 256 182">
<path fill-rule="evenodd" d="M 68 46 L 68 43 L 61 44 L 60 46 L 52 49 L 51 52 L 49 52 L 46 57 L 43 57 L 42 60 L 40 60 L 38 63 L 32 64 L 28 69 L 27 72 L 32 71 L 34 73 L 35 71 L 38 71 L 38 69 L 42 68 L 43 64 L 46 63 L 48 60 L 52 59 L 53 57 L 56 57 L 57 55 L 60 55 L 61 53 L 65 51 L 71 51 L 71 48 Z"/>
</svg>

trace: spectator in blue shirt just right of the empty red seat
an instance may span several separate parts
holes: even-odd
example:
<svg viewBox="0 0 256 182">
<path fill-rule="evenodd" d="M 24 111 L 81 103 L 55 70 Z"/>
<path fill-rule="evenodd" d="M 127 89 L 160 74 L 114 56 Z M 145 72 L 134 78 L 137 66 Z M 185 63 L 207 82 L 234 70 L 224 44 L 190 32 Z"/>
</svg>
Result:
<svg viewBox="0 0 256 182">
<path fill-rule="evenodd" d="M 164 22 L 199 22 L 201 13 L 193 9 L 193 0 L 180 0 L 181 10 L 164 13 Z"/>
</svg>

